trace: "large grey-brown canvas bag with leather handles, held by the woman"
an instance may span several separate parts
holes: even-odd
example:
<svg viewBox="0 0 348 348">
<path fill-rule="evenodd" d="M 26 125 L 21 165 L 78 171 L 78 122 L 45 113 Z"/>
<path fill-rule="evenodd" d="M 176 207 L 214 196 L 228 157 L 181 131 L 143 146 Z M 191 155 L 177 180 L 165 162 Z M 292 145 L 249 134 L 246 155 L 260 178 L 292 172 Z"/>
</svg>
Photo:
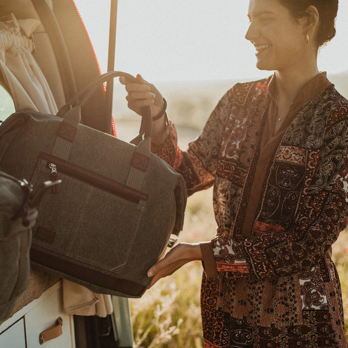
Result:
<svg viewBox="0 0 348 348">
<path fill-rule="evenodd" d="M 151 283 L 147 270 L 182 230 L 187 192 L 182 176 L 150 152 L 150 107 L 136 145 L 79 124 L 81 106 L 116 76 L 137 82 L 106 73 L 63 106 L 63 119 L 12 114 L 0 126 L 0 170 L 34 188 L 62 180 L 38 207 L 32 263 L 95 293 L 138 298 Z"/>
</svg>

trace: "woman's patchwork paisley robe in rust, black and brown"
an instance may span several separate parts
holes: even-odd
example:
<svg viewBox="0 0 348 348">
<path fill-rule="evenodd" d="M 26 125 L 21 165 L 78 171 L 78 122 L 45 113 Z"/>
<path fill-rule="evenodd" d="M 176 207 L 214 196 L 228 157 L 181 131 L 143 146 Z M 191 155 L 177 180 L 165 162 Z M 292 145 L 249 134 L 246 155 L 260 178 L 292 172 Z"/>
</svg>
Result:
<svg viewBox="0 0 348 348">
<path fill-rule="evenodd" d="M 152 140 L 189 194 L 214 184 L 204 346 L 346 348 L 328 251 L 348 223 L 348 101 L 321 73 L 273 135 L 273 80 L 232 87 L 186 152 L 172 122 Z"/>
</svg>

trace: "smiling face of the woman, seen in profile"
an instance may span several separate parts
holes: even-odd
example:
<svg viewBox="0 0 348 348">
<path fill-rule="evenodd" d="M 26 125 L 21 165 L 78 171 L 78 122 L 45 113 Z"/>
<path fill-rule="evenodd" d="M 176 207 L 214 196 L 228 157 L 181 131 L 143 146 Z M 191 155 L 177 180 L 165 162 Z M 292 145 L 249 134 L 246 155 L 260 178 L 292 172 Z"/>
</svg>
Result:
<svg viewBox="0 0 348 348">
<path fill-rule="evenodd" d="M 260 70 L 287 70 L 303 63 L 308 53 L 303 23 L 277 0 L 250 0 L 245 38 L 255 46 Z"/>
</svg>

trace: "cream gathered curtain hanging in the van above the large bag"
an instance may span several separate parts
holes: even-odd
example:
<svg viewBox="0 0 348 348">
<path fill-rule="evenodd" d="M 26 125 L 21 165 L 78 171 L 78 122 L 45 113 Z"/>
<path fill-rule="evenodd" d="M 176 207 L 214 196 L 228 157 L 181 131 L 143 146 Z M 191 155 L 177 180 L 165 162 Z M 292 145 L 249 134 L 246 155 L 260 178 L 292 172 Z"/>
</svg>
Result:
<svg viewBox="0 0 348 348">
<path fill-rule="evenodd" d="M 0 18 L 0 69 L 10 89 L 16 111 L 33 110 L 55 115 L 58 111 L 47 80 L 31 52 L 29 38 L 38 19 Z"/>
</svg>

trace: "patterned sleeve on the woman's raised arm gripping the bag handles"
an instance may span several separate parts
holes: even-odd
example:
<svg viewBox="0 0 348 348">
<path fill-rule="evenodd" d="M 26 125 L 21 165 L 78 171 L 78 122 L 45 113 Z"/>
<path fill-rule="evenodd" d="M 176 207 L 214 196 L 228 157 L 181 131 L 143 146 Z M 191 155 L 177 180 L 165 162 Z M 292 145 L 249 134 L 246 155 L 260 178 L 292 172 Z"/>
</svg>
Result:
<svg viewBox="0 0 348 348">
<path fill-rule="evenodd" d="M 233 87 L 232 87 L 233 89 Z M 161 143 L 151 143 L 151 152 L 164 159 L 186 183 L 188 195 L 211 187 L 214 183 L 222 135 L 228 121 L 228 93 L 217 104 L 203 132 L 189 144 L 187 151 L 177 146 L 174 124 L 169 121 L 169 134 Z"/>
</svg>

